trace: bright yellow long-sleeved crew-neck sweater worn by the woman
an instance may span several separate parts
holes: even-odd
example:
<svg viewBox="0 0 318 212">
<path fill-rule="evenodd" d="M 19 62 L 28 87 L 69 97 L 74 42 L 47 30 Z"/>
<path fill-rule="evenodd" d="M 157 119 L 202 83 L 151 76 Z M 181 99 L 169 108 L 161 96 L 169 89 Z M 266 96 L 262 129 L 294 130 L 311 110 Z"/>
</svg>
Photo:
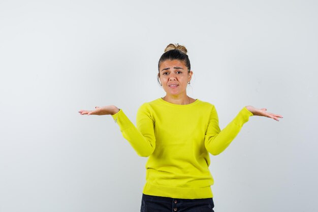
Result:
<svg viewBox="0 0 318 212">
<path fill-rule="evenodd" d="M 137 154 L 149 157 L 144 194 L 201 199 L 213 197 L 209 153 L 223 152 L 251 115 L 244 107 L 220 131 L 212 104 L 176 105 L 160 98 L 139 108 L 137 128 L 122 110 L 112 116 Z"/>
</svg>

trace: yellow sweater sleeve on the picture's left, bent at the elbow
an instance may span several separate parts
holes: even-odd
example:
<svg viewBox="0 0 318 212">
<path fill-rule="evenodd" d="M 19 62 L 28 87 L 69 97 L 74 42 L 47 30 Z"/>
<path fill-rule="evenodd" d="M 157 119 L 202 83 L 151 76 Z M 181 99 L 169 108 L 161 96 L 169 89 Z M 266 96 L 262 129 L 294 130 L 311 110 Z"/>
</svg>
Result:
<svg viewBox="0 0 318 212">
<path fill-rule="evenodd" d="M 137 128 L 121 109 L 112 117 L 118 124 L 122 136 L 129 141 L 139 156 L 148 157 L 152 154 L 155 148 L 154 122 L 145 104 L 138 110 Z"/>
</svg>

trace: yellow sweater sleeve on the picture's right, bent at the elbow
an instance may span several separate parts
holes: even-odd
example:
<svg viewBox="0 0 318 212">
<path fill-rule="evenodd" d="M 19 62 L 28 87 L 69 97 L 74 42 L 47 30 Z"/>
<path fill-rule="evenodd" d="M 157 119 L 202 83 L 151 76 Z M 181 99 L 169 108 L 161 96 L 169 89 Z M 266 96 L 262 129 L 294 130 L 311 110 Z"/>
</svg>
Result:
<svg viewBox="0 0 318 212">
<path fill-rule="evenodd" d="M 244 107 L 227 127 L 220 130 L 217 112 L 215 107 L 213 107 L 204 140 L 208 152 L 212 155 L 218 155 L 223 152 L 240 132 L 244 123 L 248 122 L 249 116 L 252 115 L 253 114 Z"/>
</svg>

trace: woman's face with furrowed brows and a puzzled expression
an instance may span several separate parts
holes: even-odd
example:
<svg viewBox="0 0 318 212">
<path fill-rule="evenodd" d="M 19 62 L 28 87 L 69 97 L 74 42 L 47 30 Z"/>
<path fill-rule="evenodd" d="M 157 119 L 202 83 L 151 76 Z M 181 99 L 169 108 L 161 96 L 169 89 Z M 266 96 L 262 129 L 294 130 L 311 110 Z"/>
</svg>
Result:
<svg viewBox="0 0 318 212">
<path fill-rule="evenodd" d="M 159 67 L 160 82 L 169 96 L 186 95 L 187 83 L 191 80 L 192 71 L 188 72 L 183 61 L 165 60 Z"/>
</svg>

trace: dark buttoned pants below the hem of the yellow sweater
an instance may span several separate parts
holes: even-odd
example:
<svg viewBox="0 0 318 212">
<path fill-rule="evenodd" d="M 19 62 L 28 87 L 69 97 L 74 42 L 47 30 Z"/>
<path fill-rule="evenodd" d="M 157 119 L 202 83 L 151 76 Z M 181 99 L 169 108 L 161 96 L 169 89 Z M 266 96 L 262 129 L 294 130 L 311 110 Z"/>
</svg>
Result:
<svg viewBox="0 0 318 212">
<path fill-rule="evenodd" d="M 142 195 L 140 212 L 214 212 L 213 198 L 174 199 Z"/>
</svg>

